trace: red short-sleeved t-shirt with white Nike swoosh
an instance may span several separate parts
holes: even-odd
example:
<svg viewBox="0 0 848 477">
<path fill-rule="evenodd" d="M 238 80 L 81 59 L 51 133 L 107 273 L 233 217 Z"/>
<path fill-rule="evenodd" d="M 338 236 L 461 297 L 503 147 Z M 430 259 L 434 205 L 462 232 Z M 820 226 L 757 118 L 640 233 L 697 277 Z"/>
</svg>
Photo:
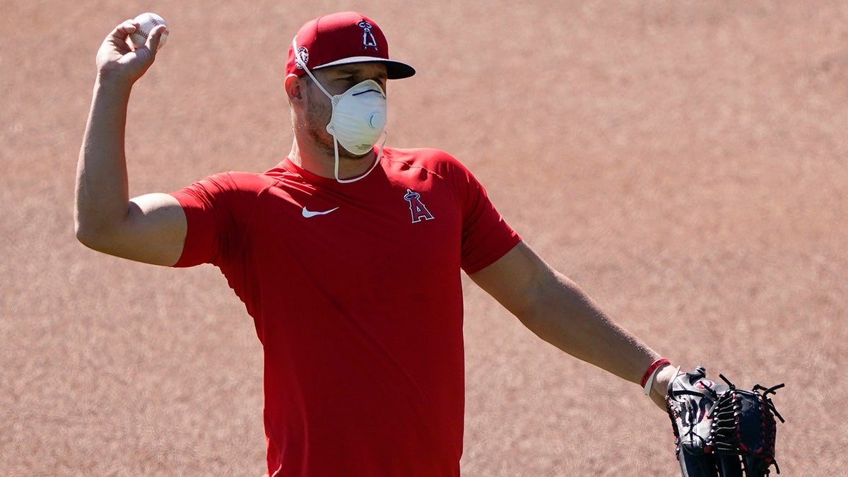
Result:
<svg viewBox="0 0 848 477">
<path fill-rule="evenodd" d="M 389 149 L 340 184 L 284 160 L 173 194 L 176 267 L 219 267 L 265 351 L 271 475 L 458 475 L 460 268 L 519 242 L 485 190 L 435 149 Z"/>
</svg>

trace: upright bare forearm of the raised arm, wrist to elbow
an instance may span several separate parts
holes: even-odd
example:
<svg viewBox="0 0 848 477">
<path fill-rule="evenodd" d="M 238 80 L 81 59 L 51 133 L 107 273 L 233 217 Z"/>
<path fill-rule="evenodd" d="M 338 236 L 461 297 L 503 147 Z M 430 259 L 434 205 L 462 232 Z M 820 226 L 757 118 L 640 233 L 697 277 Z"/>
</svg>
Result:
<svg viewBox="0 0 848 477">
<path fill-rule="evenodd" d="M 124 135 L 131 84 L 103 81 L 94 86 L 76 174 L 78 236 L 108 233 L 126 217 L 129 188 Z"/>
</svg>

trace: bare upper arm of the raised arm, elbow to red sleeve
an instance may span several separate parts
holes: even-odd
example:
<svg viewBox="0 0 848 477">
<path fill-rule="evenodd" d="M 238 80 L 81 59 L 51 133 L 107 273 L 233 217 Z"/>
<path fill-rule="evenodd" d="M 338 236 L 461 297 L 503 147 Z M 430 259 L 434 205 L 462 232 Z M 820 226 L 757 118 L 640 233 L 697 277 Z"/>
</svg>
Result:
<svg viewBox="0 0 848 477">
<path fill-rule="evenodd" d="M 129 202 L 126 217 L 94 250 L 132 261 L 170 267 L 180 259 L 187 233 L 186 214 L 169 194 L 145 194 Z"/>
</svg>

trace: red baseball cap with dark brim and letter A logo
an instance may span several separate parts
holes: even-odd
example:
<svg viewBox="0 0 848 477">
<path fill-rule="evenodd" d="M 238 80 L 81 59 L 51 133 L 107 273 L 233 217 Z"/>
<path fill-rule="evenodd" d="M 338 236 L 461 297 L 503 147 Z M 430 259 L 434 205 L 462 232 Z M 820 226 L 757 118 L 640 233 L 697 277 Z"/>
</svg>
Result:
<svg viewBox="0 0 848 477">
<path fill-rule="evenodd" d="M 301 76 L 303 65 L 295 61 L 294 44 L 306 67 L 318 70 L 327 66 L 378 61 L 386 65 L 388 79 L 398 80 L 416 74 L 415 68 L 388 59 L 388 41 L 374 20 L 357 12 L 340 12 L 310 20 L 300 27 L 288 47 L 286 74 Z"/>
</svg>

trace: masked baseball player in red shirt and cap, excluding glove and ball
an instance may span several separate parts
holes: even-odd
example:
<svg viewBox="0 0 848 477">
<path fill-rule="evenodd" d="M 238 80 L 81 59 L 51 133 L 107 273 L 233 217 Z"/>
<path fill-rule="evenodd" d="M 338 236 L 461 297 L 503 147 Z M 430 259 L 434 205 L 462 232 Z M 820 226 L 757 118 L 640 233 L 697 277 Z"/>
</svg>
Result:
<svg viewBox="0 0 848 477">
<path fill-rule="evenodd" d="M 668 360 L 536 255 L 465 166 L 385 145 L 386 84 L 415 70 L 389 56 L 374 20 L 329 14 L 294 36 L 282 162 L 131 199 L 127 104 L 165 30 L 133 49 L 137 28 L 116 26 L 98 51 L 77 238 L 134 261 L 220 268 L 264 349 L 268 474 L 459 474 L 461 271 L 533 333 L 665 408 Z"/>
</svg>

